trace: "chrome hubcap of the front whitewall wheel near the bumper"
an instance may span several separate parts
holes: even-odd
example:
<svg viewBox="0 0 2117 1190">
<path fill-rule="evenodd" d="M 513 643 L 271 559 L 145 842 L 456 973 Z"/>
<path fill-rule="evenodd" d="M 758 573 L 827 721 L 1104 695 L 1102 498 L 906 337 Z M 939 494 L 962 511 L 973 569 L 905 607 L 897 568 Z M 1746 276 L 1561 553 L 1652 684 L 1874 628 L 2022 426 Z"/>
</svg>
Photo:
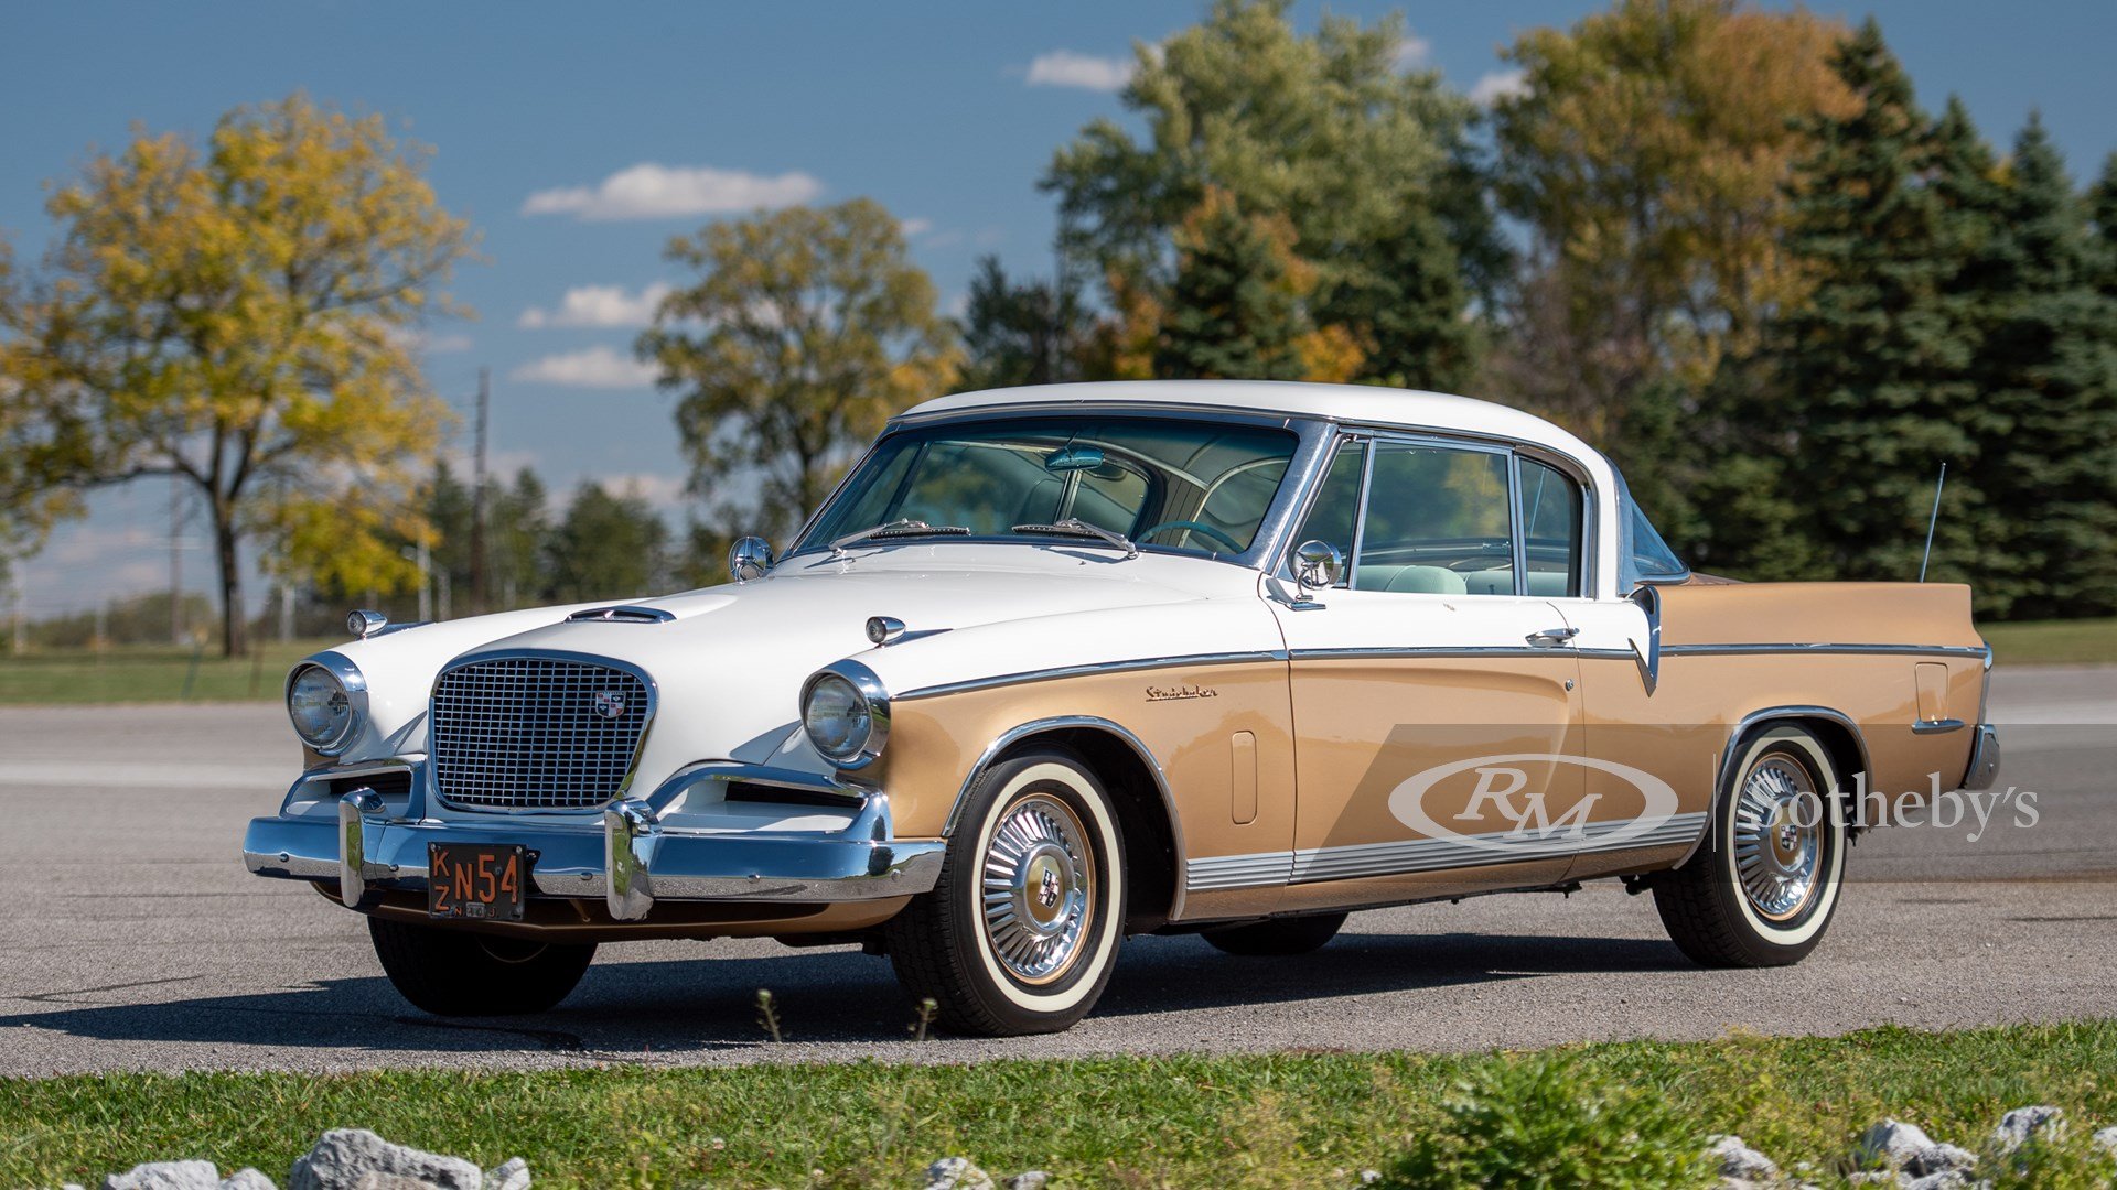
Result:
<svg viewBox="0 0 2117 1190">
<path fill-rule="evenodd" d="M 984 940 L 1023 982 L 1052 982 L 1080 955 L 1094 906 L 1088 832 L 1058 798 L 1031 794 L 1001 815 L 984 851 Z"/>
</svg>

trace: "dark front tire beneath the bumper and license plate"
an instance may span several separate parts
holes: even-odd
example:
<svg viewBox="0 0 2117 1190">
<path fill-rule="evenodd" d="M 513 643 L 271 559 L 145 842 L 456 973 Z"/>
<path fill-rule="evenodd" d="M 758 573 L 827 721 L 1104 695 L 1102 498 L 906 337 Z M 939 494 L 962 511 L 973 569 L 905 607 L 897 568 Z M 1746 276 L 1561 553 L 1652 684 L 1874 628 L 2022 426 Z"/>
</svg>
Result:
<svg viewBox="0 0 2117 1190">
<path fill-rule="evenodd" d="M 434 1016 L 514 1016 L 557 1008 L 595 944 L 533 942 L 368 917 L 375 957 L 404 999 Z"/>
</svg>

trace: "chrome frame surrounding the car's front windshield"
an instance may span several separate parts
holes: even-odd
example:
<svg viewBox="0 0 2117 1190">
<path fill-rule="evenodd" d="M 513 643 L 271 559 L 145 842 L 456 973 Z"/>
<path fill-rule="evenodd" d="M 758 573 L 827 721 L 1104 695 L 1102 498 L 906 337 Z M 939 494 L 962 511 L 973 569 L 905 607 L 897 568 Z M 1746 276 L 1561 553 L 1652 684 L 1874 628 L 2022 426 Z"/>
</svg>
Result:
<svg viewBox="0 0 2117 1190">
<path fill-rule="evenodd" d="M 1327 447 L 1332 443 L 1334 423 L 1325 419 L 1310 417 L 1283 417 L 1255 411 L 1228 411 L 1228 409 L 1200 409 L 1196 404 L 1147 404 L 1137 400 L 1124 402 L 1037 402 L 1037 404 L 1006 404 L 991 409 L 961 409 L 948 413 L 929 413 L 923 417 L 895 417 L 883 432 L 860 453 L 860 459 L 847 468 L 845 476 L 832 489 L 832 493 L 817 506 L 815 512 L 802 523 L 800 534 L 794 536 L 794 544 L 781 555 L 773 565 L 779 565 L 792 557 L 828 553 L 830 542 L 811 540 L 815 527 L 824 521 L 824 512 L 832 508 L 843 495 L 853 474 L 868 466 L 876 451 L 883 449 L 893 436 L 906 430 L 925 430 L 931 426 L 970 426 L 978 421 L 1020 421 L 1025 417 L 1145 417 L 1154 421 L 1207 421 L 1215 426 L 1255 426 L 1266 430 L 1289 430 L 1296 436 L 1293 455 L 1287 457 L 1287 474 L 1279 481 L 1279 491 L 1272 493 L 1270 506 L 1264 510 L 1264 519 L 1257 523 L 1257 534 L 1251 538 L 1249 548 L 1243 553 L 1200 553 L 1190 548 L 1158 546 L 1150 542 L 1139 542 L 1139 553 L 1143 555 L 1166 555 L 1166 557 L 1192 557 L 1198 561 L 1222 561 L 1241 565 L 1245 570 L 1264 570 L 1268 561 L 1281 553 L 1281 542 L 1285 534 L 1293 531 L 1293 521 L 1298 512 L 1306 506 L 1308 487 L 1315 481 L 1315 468 L 1319 459 L 1327 457 Z M 931 538 L 893 538 L 874 544 L 1010 544 L 1029 548 L 1067 548 L 1080 546 L 1067 538 L 1029 538 L 1016 534 L 974 534 L 974 536 L 931 536 Z M 857 546 L 855 546 L 857 548 Z"/>
</svg>

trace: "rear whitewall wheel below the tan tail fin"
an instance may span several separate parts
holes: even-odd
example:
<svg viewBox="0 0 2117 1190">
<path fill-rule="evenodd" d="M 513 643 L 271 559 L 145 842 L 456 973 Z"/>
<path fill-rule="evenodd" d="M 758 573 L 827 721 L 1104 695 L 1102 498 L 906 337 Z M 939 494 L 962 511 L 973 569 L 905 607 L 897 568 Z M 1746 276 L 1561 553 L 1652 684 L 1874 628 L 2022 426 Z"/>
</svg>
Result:
<svg viewBox="0 0 2117 1190">
<path fill-rule="evenodd" d="M 1844 883 L 1838 769 L 1797 726 L 1740 743 L 1713 834 L 1653 883 L 1668 936 L 1700 966 L 1780 968 L 1823 940 Z"/>
</svg>

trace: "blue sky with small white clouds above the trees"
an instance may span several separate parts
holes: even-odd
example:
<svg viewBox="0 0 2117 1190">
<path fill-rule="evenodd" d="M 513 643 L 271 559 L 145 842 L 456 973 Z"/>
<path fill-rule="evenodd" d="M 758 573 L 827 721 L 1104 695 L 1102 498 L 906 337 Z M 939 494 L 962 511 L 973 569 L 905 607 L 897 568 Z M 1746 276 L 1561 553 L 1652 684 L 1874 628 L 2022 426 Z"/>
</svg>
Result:
<svg viewBox="0 0 2117 1190">
<path fill-rule="evenodd" d="M 1338 2 L 1401 8 L 1408 59 L 1456 87 L 1501 83 L 1516 32 L 1598 8 L 1560 2 Z M 1810 4 L 1874 13 L 1937 106 L 1958 91 L 2005 142 L 2032 108 L 2077 176 L 2117 148 L 2117 6 L 2106 0 Z M 682 517 L 671 398 L 629 343 L 661 246 L 747 201 L 872 195 L 906 220 L 942 299 L 978 254 L 1048 271 L 1035 180 L 1099 114 L 1135 40 L 1192 23 L 1186 2 L 1071 4 L 15 4 L 0 17 L 0 231 L 47 235 L 44 186 L 133 123 L 203 133 L 231 106 L 305 89 L 381 112 L 434 146 L 442 201 L 485 235 L 453 292 L 474 322 L 430 330 L 428 375 L 468 409 L 493 371 L 493 459 L 565 491 L 635 487 Z M 1321 4 L 1300 2 L 1302 25 Z M 455 443 L 457 447 L 462 443 Z M 195 534 L 195 531 L 193 531 Z M 23 570 L 32 614 L 167 582 L 159 483 L 104 493 Z M 205 555 L 186 551 L 186 587 Z M 252 589 L 252 597 L 260 591 Z"/>
</svg>

